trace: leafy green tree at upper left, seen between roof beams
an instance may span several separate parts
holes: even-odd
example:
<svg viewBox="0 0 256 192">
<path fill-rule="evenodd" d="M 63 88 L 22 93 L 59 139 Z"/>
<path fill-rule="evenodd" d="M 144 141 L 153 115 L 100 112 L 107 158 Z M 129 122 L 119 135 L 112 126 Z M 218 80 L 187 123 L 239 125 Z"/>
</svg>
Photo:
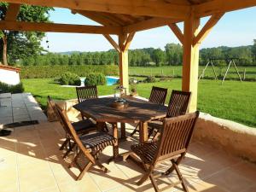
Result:
<svg viewBox="0 0 256 192">
<path fill-rule="evenodd" d="M 0 20 L 4 20 L 8 10 L 8 3 L 0 3 Z M 31 22 L 49 22 L 49 7 L 21 5 L 17 20 Z M 26 59 L 28 56 L 38 55 L 44 49 L 41 40 L 44 32 L 14 32 L 3 30 L 0 32 L 0 52 L 3 55 L 3 64 Z"/>
</svg>

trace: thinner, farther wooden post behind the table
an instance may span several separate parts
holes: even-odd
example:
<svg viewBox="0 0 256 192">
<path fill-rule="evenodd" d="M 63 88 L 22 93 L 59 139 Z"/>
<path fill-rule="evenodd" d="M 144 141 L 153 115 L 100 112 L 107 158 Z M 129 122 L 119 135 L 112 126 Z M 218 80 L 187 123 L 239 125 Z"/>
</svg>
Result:
<svg viewBox="0 0 256 192">
<path fill-rule="evenodd" d="M 119 78 L 120 84 L 129 92 L 129 75 L 128 75 L 128 49 L 124 49 L 127 34 L 119 35 Z"/>
</svg>

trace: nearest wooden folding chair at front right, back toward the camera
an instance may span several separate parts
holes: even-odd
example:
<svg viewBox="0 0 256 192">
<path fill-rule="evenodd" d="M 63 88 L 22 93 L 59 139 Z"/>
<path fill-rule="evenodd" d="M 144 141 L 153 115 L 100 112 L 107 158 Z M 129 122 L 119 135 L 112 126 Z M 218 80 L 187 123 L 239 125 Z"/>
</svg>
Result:
<svg viewBox="0 0 256 192">
<path fill-rule="evenodd" d="M 131 151 L 137 154 L 143 161 L 146 171 L 143 177 L 137 182 L 138 185 L 144 183 L 149 177 L 154 190 L 160 191 L 154 180 L 154 168 L 159 162 L 171 160 L 172 166 L 166 172 L 163 172 L 162 175 L 169 175 L 175 170 L 179 182 L 167 187 L 169 188 L 181 183 L 183 190 L 188 191 L 178 165 L 188 151 L 198 116 L 199 112 L 195 112 L 174 118 L 166 118 L 164 120 L 164 129 L 161 130 L 160 140 L 131 145 Z"/>
</svg>

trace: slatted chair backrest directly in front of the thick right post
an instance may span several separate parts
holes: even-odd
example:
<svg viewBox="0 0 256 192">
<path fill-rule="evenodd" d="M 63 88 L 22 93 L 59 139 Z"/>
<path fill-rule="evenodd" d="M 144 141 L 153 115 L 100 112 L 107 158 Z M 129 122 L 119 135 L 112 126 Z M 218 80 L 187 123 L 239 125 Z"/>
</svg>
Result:
<svg viewBox="0 0 256 192">
<path fill-rule="evenodd" d="M 172 90 L 172 96 L 168 104 L 166 118 L 177 117 L 187 113 L 191 92 Z"/>
</svg>

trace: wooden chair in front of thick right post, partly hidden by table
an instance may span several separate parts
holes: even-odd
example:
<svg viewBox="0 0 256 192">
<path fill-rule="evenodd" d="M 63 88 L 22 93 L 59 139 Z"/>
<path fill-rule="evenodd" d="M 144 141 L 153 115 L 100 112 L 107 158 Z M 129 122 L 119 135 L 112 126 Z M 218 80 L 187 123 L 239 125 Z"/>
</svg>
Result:
<svg viewBox="0 0 256 192">
<path fill-rule="evenodd" d="M 172 90 L 172 95 L 166 111 L 166 118 L 177 117 L 187 113 L 190 101 L 190 92 L 181 90 Z M 163 127 L 163 122 L 160 120 L 148 123 L 148 137 L 151 137 L 155 131 L 153 139 L 160 135 L 160 129 Z"/>
</svg>

